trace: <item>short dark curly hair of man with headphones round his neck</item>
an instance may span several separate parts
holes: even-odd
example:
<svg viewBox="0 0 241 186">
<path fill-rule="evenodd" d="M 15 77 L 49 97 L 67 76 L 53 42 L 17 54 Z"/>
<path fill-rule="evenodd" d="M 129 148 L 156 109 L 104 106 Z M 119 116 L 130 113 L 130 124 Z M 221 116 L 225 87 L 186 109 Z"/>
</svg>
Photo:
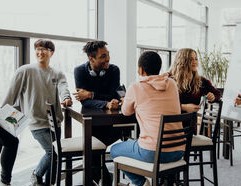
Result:
<svg viewBox="0 0 241 186">
<path fill-rule="evenodd" d="M 105 41 L 89 41 L 83 47 L 83 51 L 87 54 L 87 56 L 95 58 L 98 49 L 105 47 L 105 45 L 108 45 Z"/>
</svg>

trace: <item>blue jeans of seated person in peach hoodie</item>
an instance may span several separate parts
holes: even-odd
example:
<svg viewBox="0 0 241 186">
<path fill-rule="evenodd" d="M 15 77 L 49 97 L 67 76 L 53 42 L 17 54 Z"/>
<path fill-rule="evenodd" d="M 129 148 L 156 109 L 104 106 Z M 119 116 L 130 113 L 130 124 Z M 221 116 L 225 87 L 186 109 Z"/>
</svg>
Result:
<svg viewBox="0 0 241 186">
<path fill-rule="evenodd" d="M 161 163 L 178 161 L 183 157 L 183 154 L 183 151 L 162 152 L 160 155 L 160 161 Z M 137 140 L 128 140 L 113 145 L 110 149 L 110 155 L 112 158 L 116 158 L 118 156 L 125 156 L 148 163 L 153 163 L 155 151 L 141 148 Z M 124 173 L 136 186 L 142 186 L 146 181 L 146 178 L 144 176 L 129 172 Z"/>
</svg>

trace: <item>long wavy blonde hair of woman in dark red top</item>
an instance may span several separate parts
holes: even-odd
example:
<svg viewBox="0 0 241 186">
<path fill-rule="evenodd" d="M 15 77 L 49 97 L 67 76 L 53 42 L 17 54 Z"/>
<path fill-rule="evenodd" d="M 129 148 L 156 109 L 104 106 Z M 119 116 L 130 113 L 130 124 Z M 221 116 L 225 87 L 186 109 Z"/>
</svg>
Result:
<svg viewBox="0 0 241 186">
<path fill-rule="evenodd" d="M 201 76 L 197 71 L 192 71 L 191 54 L 197 52 L 191 48 L 183 48 L 177 51 L 170 74 L 177 82 L 179 93 L 198 93 L 202 85 Z"/>
</svg>

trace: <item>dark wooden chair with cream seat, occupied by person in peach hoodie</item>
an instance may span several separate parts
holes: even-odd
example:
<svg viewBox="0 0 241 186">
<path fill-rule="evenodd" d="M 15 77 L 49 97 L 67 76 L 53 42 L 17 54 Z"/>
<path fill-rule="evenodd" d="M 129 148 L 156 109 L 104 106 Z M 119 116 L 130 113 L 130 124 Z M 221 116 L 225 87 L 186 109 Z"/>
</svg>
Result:
<svg viewBox="0 0 241 186">
<path fill-rule="evenodd" d="M 154 163 L 147 163 L 123 156 L 114 158 L 114 185 L 122 185 L 122 183 L 120 183 L 120 170 L 122 170 L 151 178 L 153 186 L 159 185 L 160 179 L 163 180 L 164 177 L 169 177 L 170 175 L 174 175 L 174 177 L 177 178 L 175 181 L 177 181 L 179 184 L 179 173 L 183 172 L 184 185 L 187 186 L 189 184 L 189 150 L 193 136 L 193 128 L 191 126 L 194 125 L 196 117 L 196 113 L 162 115 L 160 120 Z M 189 123 L 190 125 L 175 130 L 164 130 L 164 128 L 171 128 L 170 126 L 166 125 L 173 125 L 175 122 L 185 122 Z M 163 149 L 170 151 L 170 148 L 183 147 L 183 145 L 185 146 L 183 159 L 171 163 L 159 163 L 161 156 L 160 152 Z M 171 181 L 173 181 L 175 178 L 172 178 Z"/>
</svg>

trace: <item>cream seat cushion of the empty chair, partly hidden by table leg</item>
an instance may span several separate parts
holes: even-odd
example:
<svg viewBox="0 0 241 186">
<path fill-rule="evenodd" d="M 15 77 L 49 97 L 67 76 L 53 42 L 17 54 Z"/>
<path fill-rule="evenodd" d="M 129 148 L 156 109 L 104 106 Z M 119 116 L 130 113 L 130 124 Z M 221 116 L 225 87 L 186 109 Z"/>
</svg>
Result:
<svg viewBox="0 0 241 186">
<path fill-rule="evenodd" d="M 56 141 L 53 146 L 57 149 Z M 62 152 L 83 151 L 83 137 L 73 137 L 61 139 Z M 104 150 L 106 145 L 92 136 L 92 150 Z M 57 152 L 56 152 L 57 153 Z"/>
</svg>

